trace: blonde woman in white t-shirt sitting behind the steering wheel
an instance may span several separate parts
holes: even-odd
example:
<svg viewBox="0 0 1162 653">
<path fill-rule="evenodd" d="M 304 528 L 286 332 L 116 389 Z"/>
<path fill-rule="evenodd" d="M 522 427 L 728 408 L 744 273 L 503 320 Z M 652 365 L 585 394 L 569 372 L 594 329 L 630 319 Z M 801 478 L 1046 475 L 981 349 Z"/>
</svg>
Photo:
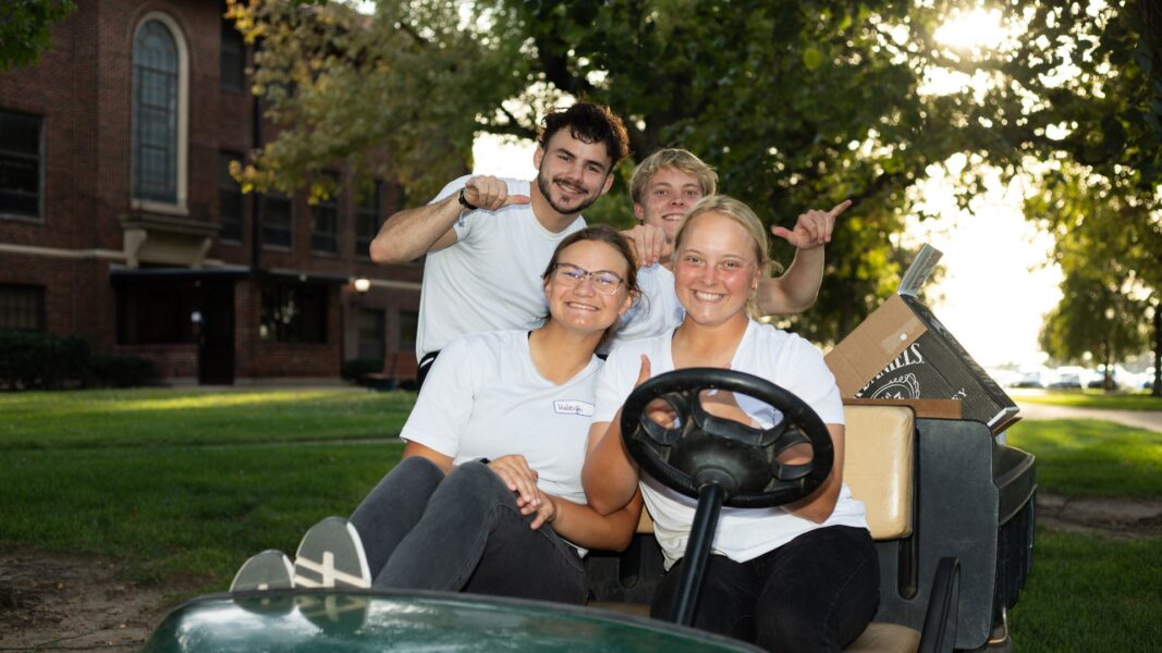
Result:
<svg viewBox="0 0 1162 653">
<path fill-rule="evenodd" d="M 616 512 L 637 501 L 640 488 L 668 569 L 651 613 L 665 618 L 676 602 L 696 502 L 640 472 L 627 455 L 622 404 L 651 373 L 684 367 L 737 369 L 790 390 L 827 425 L 831 475 L 810 496 L 781 508 L 722 509 L 694 625 L 768 650 L 839 651 L 875 613 L 880 571 L 863 504 L 842 482 L 844 411 L 835 380 L 810 343 L 752 320 L 768 259 L 766 229 L 746 204 L 724 195 L 701 200 L 675 236 L 673 260 L 682 323 L 614 350 L 598 376 L 582 474 L 589 502 Z M 744 423 L 769 428 L 777 421 L 769 408 L 765 412 L 731 393 L 701 401 L 706 411 Z"/>
</svg>

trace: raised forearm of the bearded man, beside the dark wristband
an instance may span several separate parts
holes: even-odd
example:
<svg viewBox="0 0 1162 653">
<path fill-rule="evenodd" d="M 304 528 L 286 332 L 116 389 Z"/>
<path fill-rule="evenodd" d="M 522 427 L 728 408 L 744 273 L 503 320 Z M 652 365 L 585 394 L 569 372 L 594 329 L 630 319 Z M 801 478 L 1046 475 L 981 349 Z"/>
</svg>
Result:
<svg viewBox="0 0 1162 653">
<path fill-rule="evenodd" d="M 371 259 L 382 265 L 407 263 L 450 245 L 454 238 L 449 234 L 462 208 L 457 196 L 451 195 L 393 215 L 371 242 Z"/>
</svg>

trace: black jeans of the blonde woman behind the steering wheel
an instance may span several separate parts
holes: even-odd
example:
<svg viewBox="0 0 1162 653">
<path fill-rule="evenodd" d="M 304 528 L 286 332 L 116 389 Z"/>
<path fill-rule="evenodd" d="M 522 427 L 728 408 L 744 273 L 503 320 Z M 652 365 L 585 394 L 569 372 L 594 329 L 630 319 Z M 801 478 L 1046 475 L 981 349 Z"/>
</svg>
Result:
<svg viewBox="0 0 1162 653">
<path fill-rule="evenodd" d="M 659 583 L 651 616 L 669 618 L 682 560 Z M 711 555 L 694 626 L 768 651 L 840 651 L 880 605 L 880 562 L 866 529 L 827 526 L 746 562 Z"/>
</svg>

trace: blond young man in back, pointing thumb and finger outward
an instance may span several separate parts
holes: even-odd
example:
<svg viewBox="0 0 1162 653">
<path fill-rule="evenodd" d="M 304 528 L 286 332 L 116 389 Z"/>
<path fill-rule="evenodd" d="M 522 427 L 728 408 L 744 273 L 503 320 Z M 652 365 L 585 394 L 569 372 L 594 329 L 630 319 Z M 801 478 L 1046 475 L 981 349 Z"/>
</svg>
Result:
<svg viewBox="0 0 1162 653">
<path fill-rule="evenodd" d="M 668 148 L 646 157 L 630 178 L 633 215 L 640 224 L 631 232 L 636 239 L 648 239 L 660 230 L 667 245 L 655 249 L 658 256 L 641 257 L 638 287 L 641 299 L 622 320 L 605 351 L 624 342 L 648 338 L 681 324 L 684 311 L 674 294 L 673 264 L 669 246 L 686 213 L 703 196 L 717 191 L 713 168 L 688 150 Z M 755 302 L 763 315 L 802 313 L 815 303 L 823 282 L 823 245 L 831 241 L 835 217 L 852 204 L 841 202 L 830 211 L 809 210 L 798 216 L 795 229 L 772 227 L 770 232 L 795 245 L 795 259 L 782 277 L 759 281 Z"/>
</svg>

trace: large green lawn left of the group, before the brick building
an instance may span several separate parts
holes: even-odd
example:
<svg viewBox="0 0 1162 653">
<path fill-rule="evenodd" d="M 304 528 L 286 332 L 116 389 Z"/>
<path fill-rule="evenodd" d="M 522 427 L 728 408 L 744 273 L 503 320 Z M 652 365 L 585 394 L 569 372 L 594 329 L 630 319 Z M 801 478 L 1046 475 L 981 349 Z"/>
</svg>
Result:
<svg viewBox="0 0 1162 653">
<path fill-rule="evenodd" d="M 414 393 L 0 395 L 0 547 L 96 554 L 132 580 L 225 589 L 399 462 Z"/>
</svg>

